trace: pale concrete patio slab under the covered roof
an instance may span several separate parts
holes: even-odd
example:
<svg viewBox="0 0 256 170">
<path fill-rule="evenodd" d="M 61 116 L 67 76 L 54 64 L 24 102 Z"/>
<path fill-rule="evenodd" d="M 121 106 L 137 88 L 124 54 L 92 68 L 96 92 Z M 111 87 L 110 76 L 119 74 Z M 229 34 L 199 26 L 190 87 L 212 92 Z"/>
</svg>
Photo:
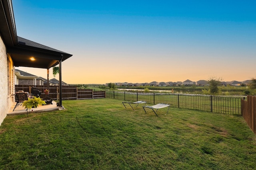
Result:
<svg viewBox="0 0 256 170">
<path fill-rule="evenodd" d="M 18 115 L 18 114 L 26 114 L 27 111 L 25 109 L 25 107 L 22 106 L 18 106 L 15 108 L 14 111 L 12 111 L 14 109 L 16 105 L 16 102 L 14 102 L 12 104 L 11 109 L 9 110 L 9 112 L 7 113 L 7 115 Z M 65 109 L 63 106 L 62 107 L 58 107 L 56 105 L 56 102 L 52 101 L 52 104 L 46 104 L 44 106 L 39 105 L 37 108 L 32 108 L 30 109 L 30 111 L 28 110 L 28 113 L 34 113 L 34 112 L 42 112 L 42 111 L 52 111 L 52 110 L 62 110 Z"/>
</svg>

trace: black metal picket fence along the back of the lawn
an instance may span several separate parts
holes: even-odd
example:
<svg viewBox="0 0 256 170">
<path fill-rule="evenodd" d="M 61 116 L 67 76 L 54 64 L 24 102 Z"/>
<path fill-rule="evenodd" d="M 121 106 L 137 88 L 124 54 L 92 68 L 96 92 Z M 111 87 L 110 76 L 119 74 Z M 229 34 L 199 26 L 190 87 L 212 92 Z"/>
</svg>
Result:
<svg viewBox="0 0 256 170">
<path fill-rule="evenodd" d="M 146 101 L 148 104 L 164 103 L 171 107 L 241 115 L 241 98 L 244 97 L 106 91 L 106 98 Z"/>
</svg>

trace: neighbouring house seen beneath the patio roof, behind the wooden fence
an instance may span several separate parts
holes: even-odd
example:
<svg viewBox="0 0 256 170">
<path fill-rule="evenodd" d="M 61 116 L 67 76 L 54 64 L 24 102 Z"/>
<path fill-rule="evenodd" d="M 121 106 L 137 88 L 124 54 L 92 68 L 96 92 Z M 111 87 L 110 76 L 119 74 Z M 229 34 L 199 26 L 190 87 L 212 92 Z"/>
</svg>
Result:
<svg viewBox="0 0 256 170">
<path fill-rule="evenodd" d="M 38 76 L 30 74 L 28 72 L 24 72 L 22 70 L 15 69 L 15 84 L 19 85 L 44 85 L 44 81 L 42 81 Z"/>
</svg>

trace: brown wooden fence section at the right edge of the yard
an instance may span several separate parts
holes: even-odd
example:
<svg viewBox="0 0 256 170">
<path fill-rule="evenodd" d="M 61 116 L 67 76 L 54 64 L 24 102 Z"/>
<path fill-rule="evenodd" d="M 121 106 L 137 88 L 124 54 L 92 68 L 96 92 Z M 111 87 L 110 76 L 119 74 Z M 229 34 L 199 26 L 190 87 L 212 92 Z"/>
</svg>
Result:
<svg viewBox="0 0 256 170">
<path fill-rule="evenodd" d="M 241 100 L 241 112 L 248 126 L 256 134 L 256 96 L 247 96 Z"/>
</svg>

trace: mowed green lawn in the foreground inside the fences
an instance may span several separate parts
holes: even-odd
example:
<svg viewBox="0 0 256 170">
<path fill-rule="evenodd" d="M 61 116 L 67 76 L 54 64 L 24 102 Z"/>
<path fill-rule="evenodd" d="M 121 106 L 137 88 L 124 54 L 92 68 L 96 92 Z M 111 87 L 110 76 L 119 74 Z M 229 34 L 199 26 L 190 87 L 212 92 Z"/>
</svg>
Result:
<svg viewBox="0 0 256 170">
<path fill-rule="evenodd" d="M 63 105 L 4 119 L 0 169 L 256 169 L 256 137 L 241 116 L 171 107 L 156 117 L 106 98 Z"/>
</svg>

